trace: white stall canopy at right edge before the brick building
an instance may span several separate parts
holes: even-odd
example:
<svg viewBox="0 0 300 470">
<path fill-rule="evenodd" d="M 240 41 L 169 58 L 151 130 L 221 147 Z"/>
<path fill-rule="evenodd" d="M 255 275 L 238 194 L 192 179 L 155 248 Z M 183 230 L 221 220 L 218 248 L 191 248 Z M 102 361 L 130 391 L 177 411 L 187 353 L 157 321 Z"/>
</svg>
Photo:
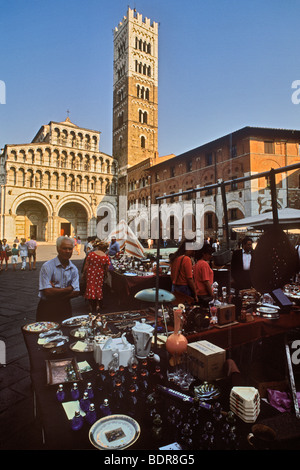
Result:
<svg viewBox="0 0 300 470">
<path fill-rule="evenodd" d="M 291 209 L 278 209 L 278 224 L 282 229 L 295 229 L 300 228 L 300 210 Z M 245 217 L 244 219 L 234 220 L 229 222 L 228 226 L 232 230 L 239 231 L 241 228 L 264 230 L 265 228 L 273 225 L 273 212 L 263 212 L 262 214 L 254 215 L 252 217 Z"/>
</svg>

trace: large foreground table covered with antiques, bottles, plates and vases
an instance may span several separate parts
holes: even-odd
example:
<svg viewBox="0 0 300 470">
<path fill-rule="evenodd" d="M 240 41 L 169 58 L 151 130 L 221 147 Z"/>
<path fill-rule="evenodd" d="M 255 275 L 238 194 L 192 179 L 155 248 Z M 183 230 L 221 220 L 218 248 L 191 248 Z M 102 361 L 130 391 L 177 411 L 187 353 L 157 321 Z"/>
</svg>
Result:
<svg viewBox="0 0 300 470">
<path fill-rule="evenodd" d="M 245 297 L 244 309 L 253 306 L 252 294 Z M 212 357 L 225 366 L 231 348 L 298 328 L 297 309 L 269 319 L 242 308 L 244 316 L 225 315 L 221 325 L 198 306 L 163 310 L 156 344 L 151 308 L 24 325 L 45 448 L 249 449 L 254 425 L 280 415 L 295 426 L 294 416 L 279 413 L 255 388 L 234 386 L 213 367 L 203 375 L 197 357 L 204 354 L 208 369 Z M 278 439 L 264 445 L 280 448 Z"/>
</svg>

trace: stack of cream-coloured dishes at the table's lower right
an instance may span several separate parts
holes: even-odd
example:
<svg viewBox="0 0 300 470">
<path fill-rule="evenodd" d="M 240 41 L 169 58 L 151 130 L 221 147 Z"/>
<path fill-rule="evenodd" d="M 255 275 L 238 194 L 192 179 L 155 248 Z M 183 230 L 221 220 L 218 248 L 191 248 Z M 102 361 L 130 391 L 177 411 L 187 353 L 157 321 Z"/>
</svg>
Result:
<svg viewBox="0 0 300 470">
<path fill-rule="evenodd" d="M 230 410 L 246 423 L 254 423 L 260 413 L 260 396 L 254 387 L 233 387 Z"/>
</svg>

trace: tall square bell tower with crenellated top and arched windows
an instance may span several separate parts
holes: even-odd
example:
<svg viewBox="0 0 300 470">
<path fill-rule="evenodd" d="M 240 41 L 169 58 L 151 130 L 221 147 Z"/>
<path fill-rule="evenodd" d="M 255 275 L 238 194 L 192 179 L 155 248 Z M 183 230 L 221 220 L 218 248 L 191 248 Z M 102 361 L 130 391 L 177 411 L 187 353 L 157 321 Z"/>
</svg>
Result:
<svg viewBox="0 0 300 470">
<path fill-rule="evenodd" d="M 119 219 L 127 212 L 127 169 L 158 149 L 158 23 L 136 10 L 114 30 L 113 156 L 119 164 Z"/>
</svg>

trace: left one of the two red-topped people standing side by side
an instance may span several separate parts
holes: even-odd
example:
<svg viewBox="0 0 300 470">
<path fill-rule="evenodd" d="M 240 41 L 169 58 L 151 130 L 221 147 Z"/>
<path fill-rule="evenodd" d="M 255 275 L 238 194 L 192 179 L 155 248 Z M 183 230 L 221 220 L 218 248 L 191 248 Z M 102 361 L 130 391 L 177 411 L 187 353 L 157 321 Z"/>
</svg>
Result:
<svg viewBox="0 0 300 470">
<path fill-rule="evenodd" d="M 184 240 L 178 250 L 171 255 L 172 292 L 180 292 L 197 300 L 191 260 L 193 254 L 192 242 Z"/>
</svg>

